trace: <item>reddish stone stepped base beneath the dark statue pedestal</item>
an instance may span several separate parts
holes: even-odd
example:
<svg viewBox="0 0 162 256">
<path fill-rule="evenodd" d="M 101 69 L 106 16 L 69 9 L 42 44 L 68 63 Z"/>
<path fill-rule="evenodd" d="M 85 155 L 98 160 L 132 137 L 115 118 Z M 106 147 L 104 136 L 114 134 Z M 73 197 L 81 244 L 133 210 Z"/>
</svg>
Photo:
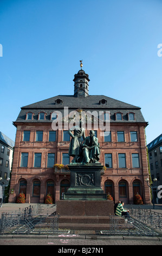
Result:
<svg viewBox="0 0 162 256">
<path fill-rule="evenodd" d="M 109 230 L 109 216 L 114 214 L 111 200 L 60 200 L 57 202 L 59 228 L 72 230 Z M 118 216 L 116 216 L 118 217 Z"/>
</svg>

